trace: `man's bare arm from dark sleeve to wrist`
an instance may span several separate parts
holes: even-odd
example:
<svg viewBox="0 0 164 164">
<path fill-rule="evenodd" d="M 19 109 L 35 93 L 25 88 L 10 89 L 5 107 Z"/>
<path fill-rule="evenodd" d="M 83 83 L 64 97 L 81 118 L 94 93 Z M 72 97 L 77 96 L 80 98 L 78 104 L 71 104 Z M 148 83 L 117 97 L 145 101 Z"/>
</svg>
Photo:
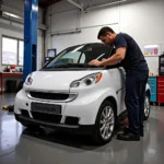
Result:
<svg viewBox="0 0 164 164">
<path fill-rule="evenodd" d="M 116 54 L 109 57 L 108 59 L 105 59 L 101 61 L 101 66 L 114 66 L 119 63 L 121 60 L 126 57 L 126 47 L 120 47 L 116 50 Z"/>
</svg>

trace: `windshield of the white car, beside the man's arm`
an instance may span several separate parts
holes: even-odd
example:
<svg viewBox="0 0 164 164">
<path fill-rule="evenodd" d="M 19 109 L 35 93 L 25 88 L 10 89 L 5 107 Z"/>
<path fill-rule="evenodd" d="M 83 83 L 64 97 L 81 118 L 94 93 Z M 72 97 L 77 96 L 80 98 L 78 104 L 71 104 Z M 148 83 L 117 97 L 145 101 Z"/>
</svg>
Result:
<svg viewBox="0 0 164 164">
<path fill-rule="evenodd" d="M 61 51 L 44 69 L 90 67 L 93 59 L 103 60 L 109 57 L 112 47 L 103 44 L 73 46 Z M 94 68 L 94 67 L 93 67 Z"/>
</svg>

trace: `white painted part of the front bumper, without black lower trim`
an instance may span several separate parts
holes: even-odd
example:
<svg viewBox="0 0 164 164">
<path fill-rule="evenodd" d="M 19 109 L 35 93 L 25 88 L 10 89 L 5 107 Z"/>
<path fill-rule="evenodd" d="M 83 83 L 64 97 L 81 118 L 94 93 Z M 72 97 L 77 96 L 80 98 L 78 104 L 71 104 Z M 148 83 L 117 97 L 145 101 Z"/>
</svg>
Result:
<svg viewBox="0 0 164 164">
<path fill-rule="evenodd" d="M 65 124 L 67 117 L 79 118 L 79 124 L 82 126 L 95 125 L 97 112 L 102 102 L 104 101 L 102 94 L 80 94 L 74 101 L 69 103 L 54 103 L 50 101 L 37 101 L 31 99 L 26 96 L 22 90 L 16 94 L 14 113 L 17 115 L 22 114 L 22 110 L 26 110 L 30 114 L 30 118 L 33 118 L 32 103 L 54 104 L 61 106 L 61 125 Z M 43 116 L 44 117 L 44 116 Z M 35 119 L 35 118 L 34 118 Z M 49 116 L 47 120 L 49 119 Z"/>
</svg>

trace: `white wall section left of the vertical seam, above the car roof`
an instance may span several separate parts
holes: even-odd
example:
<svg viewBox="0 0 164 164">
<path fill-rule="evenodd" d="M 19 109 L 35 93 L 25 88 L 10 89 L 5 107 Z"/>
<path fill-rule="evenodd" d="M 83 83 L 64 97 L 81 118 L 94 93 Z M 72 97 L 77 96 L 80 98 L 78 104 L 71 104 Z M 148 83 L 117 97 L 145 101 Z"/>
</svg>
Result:
<svg viewBox="0 0 164 164">
<path fill-rule="evenodd" d="M 84 4 L 87 3 L 89 1 Z M 52 14 L 51 16 L 47 16 L 48 31 L 46 35 L 46 48 L 57 48 L 58 52 L 67 46 L 72 46 L 74 44 L 98 42 L 97 33 L 104 25 L 110 25 L 117 32 L 119 31 L 118 7 L 80 13 L 72 4 L 67 1 L 61 1 L 50 7 L 48 13 Z M 54 33 L 74 31 L 75 28 L 81 28 L 81 33 L 50 36 L 50 34 Z"/>
</svg>

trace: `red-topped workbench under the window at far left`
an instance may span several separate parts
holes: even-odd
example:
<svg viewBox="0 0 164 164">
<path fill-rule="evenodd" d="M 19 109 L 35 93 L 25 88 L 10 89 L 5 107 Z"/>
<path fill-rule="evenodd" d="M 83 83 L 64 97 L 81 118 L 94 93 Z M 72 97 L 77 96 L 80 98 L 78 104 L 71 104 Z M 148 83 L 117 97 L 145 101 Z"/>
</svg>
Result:
<svg viewBox="0 0 164 164">
<path fill-rule="evenodd" d="M 0 94 L 4 91 L 4 80 L 17 80 L 23 79 L 23 73 L 21 72 L 0 72 Z"/>
</svg>

